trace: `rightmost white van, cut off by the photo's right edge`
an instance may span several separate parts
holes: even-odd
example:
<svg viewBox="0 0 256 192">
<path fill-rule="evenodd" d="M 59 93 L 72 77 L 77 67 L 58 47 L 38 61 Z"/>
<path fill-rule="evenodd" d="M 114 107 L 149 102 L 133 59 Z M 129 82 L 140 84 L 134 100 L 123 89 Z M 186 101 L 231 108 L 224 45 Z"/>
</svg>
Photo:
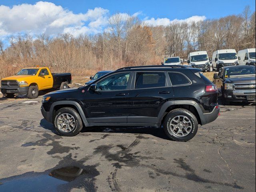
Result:
<svg viewBox="0 0 256 192">
<path fill-rule="evenodd" d="M 255 48 L 239 50 L 237 56 L 241 58 L 239 65 L 250 64 L 255 66 Z"/>
</svg>

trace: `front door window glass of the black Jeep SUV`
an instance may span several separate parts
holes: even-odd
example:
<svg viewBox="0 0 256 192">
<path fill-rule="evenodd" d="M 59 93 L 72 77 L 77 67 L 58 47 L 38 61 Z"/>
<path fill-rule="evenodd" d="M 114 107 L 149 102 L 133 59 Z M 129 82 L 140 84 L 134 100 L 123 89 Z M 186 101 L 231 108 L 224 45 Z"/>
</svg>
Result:
<svg viewBox="0 0 256 192">
<path fill-rule="evenodd" d="M 130 73 L 111 75 L 96 84 L 98 91 L 125 90 L 130 78 Z"/>
</svg>

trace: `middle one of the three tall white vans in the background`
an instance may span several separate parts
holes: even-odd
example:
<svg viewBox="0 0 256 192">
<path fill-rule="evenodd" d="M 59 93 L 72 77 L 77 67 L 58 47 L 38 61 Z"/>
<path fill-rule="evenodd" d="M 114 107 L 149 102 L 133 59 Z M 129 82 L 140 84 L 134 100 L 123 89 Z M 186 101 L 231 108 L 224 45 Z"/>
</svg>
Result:
<svg viewBox="0 0 256 192">
<path fill-rule="evenodd" d="M 212 69 L 219 71 L 225 66 L 239 65 L 239 57 L 237 57 L 234 49 L 221 49 L 214 51 L 212 54 Z"/>
</svg>

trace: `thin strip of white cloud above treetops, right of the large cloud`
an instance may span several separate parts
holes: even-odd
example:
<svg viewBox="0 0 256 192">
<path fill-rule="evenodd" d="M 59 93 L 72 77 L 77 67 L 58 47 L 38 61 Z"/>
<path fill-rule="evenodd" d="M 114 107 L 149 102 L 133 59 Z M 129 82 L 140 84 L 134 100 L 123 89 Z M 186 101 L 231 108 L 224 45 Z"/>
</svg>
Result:
<svg viewBox="0 0 256 192">
<path fill-rule="evenodd" d="M 174 20 L 170 20 L 168 18 L 145 18 L 144 19 L 144 24 L 149 25 L 149 26 L 168 26 L 173 22 L 199 22 L 199 21 L 203 21 L 206 19 L 206 16 L 192 16 L 186 19 L 174 19 Z"/>
</svg>

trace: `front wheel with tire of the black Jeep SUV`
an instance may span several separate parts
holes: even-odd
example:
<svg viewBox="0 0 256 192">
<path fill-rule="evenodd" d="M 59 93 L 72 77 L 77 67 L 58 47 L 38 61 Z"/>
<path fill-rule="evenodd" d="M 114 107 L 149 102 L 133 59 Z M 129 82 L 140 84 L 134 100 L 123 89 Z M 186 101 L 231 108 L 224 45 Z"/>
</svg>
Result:
<svg viewBox="0 0 256 192">
<path fill-rule="evenodd" d="M 80 133 L 83 123 L 76 110 L 70 107 L 64 107 L 54 114 L 54 127 L 61 136 L 72 137 Z"/>
</svg>

